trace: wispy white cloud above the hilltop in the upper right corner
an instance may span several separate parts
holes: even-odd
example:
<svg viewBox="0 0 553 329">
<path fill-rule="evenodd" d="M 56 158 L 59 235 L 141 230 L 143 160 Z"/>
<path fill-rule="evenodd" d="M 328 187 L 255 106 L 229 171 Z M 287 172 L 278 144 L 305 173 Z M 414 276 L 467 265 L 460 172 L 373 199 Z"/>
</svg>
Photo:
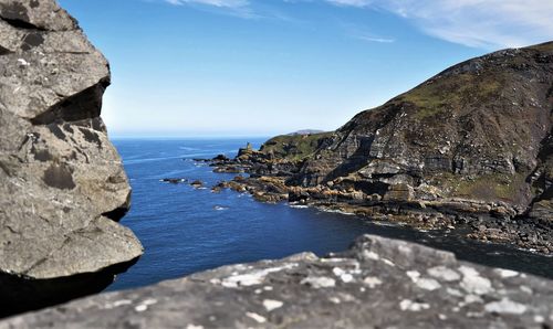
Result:
<svg viewBox="0 0 553 329">
<path fill-rule="evenodd" d="M 390 11 L 425 33 L 468 46 L 522 46 L 553 39 L 551 0 L 325 0 Z"/>
</svg>

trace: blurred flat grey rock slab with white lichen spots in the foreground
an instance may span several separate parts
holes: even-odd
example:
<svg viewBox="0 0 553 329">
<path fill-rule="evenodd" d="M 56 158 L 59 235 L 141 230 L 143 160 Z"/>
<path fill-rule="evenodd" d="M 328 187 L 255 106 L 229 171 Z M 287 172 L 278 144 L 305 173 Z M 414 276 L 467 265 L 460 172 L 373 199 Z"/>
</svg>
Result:
<svg viewBox="0 0 553 329">
<path fill-rule="evenodd" d="M 553 282 L 365 235 L 343 254 L 226 266 L 0 328 L 550 328 Z"/>
</svg>

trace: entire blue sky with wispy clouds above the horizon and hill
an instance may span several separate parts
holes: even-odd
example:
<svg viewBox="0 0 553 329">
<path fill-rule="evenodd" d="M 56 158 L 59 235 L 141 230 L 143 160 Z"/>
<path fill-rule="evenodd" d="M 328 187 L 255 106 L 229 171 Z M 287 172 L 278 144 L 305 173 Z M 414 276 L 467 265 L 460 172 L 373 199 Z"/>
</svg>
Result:
<svg viewBox="0 0 553 329">
<path fill-rule="evenodd" d="M 448 66 L 553 39 L 549 0 L 59 0 L 112 65 L 112 136 L 331 130 Z"/>
</svg>

